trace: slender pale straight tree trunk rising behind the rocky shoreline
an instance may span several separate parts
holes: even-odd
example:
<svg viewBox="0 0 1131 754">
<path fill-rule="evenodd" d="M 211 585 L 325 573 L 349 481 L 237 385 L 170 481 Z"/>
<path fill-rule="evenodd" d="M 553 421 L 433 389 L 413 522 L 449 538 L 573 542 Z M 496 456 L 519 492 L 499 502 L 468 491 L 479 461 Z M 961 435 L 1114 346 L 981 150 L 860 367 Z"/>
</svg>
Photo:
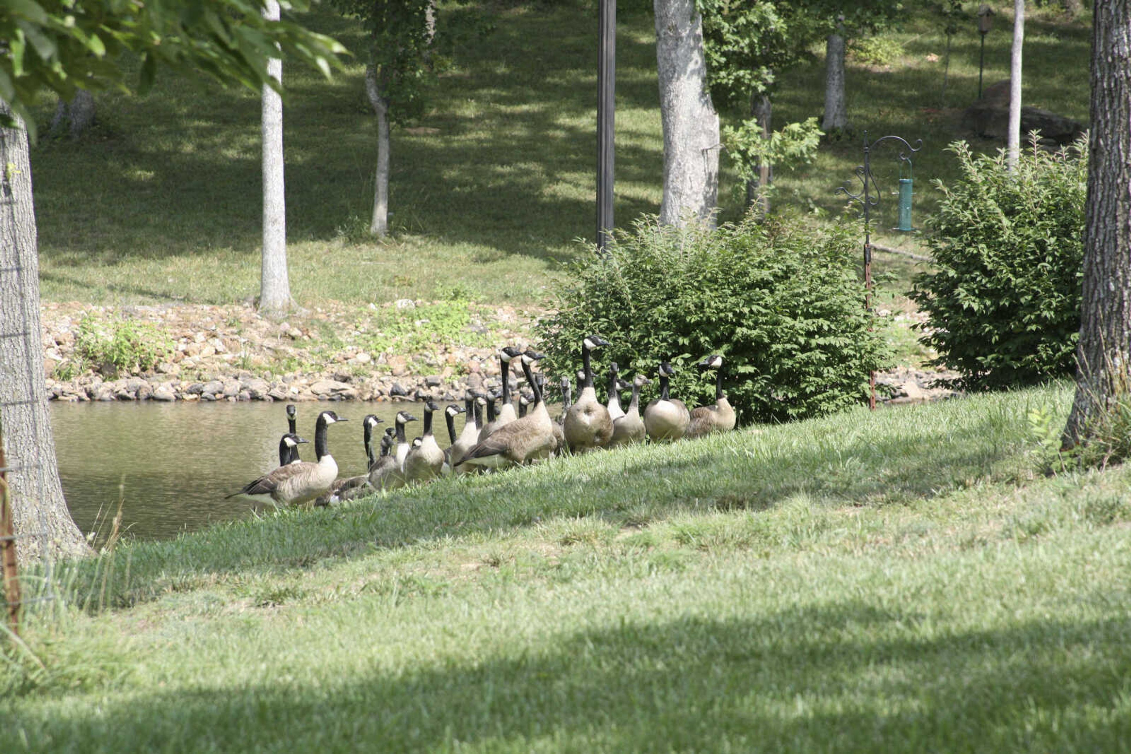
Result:
<svg viewBox="0 0 1131 754">
<path fill-rule="evenodd" d="M 267 0 L 264 17 L 278 20 L 278 0 Z M 267 73 L 283 80 L 283 61 L 273 58 Z M 259 311 L 282 317 L 294 305 L 286 270 L 286 200 L 283 189 L 283 99 L 278 92 L 264 87 L 264 257 L 259 277 Z"/>
</svg>

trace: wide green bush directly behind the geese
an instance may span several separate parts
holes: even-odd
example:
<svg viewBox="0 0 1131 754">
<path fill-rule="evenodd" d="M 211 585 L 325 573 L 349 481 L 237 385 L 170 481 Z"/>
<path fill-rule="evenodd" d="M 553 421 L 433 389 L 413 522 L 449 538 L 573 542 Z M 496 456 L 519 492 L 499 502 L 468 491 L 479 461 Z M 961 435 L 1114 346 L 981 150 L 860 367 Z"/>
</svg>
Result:
<svg viewBox="0 0 1131 754">
<path fill-rule="evenodd" d="M 644 218 L 559 284 L 556 313 L 537 324 L 547 369 L 572 375 L 581 339 L 597 332 L 612 345 L 595 353 L 595 370 L 618 362 L 655 376 L 670 361 L 672 395 L 689 406 L 715 399 L 694 362 L 724 354 L 724 387 L 743 422 L 865 400 L 869 370 L 890 353 L 864 310 L 858 240 L 856 225 L 818 231 L 779 217 L 715 231 Z M 648 397 L 657 390 L 654 380 Z"/>
</svg>

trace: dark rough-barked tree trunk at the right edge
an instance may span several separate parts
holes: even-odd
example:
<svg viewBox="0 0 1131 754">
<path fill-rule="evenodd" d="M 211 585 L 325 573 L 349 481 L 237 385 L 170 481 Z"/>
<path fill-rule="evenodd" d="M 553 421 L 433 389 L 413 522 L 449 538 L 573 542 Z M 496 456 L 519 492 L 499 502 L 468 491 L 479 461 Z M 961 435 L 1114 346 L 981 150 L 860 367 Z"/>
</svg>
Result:
<svg viewBox="0 0 1131 754">
<path fill-rule="evenodd" d="M 1064 445 L 1131 398 L 1131 0 L 1097 2 L 1077 388 Z"/>
</svg>

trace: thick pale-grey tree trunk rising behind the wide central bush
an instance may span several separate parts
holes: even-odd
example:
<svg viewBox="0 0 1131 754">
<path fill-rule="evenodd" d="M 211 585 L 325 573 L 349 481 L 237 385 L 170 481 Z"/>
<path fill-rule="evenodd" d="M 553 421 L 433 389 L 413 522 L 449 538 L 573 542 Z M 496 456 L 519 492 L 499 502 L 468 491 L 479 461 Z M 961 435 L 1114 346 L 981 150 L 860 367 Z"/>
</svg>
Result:
<svg viewBox="0 0 1131 754">
<path fill-rule="evenodd" d="M 702 17 L 694 0 L 654 0 L 664 199 L 659 222 L 714 223 L 718 205 L 718 114 L 707 90 Z"/>
</svg>

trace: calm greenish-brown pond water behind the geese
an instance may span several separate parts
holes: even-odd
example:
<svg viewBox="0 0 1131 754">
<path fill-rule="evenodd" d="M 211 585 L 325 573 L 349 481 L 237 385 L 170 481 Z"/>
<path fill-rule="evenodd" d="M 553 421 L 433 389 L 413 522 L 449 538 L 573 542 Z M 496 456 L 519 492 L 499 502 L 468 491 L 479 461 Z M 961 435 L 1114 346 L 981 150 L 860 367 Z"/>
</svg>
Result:
<svg viewBox="0 0 1131 754">
<path fill-rule="evenodd" d="M 463 404 L 460 404 L 463 405 Z M 216 521 L 245 518 L 262 504 L 245 497 L 224 500 L 278 466 L 278 443 L 286 432 L 282 402 L 161 404 L 89 402 L 51 405 L 59 475 L 71 514 L 84 532 L 105 536 L 121 504 L 128 537 L 169 539 Z M 375 414 L 391 425 L 407 408 L 422 419 L 407 426 L 423 432 L 423 404 L 299 404 L 303 460 L 314 460 L 314 419 L 323 409 L 348 423 L 327 430 L 340 476 L 365 471 L 362 419 Z M 443 414 L 433 417 L 437 441 L 448 447 Z M 385 431 L 385 424 L 379 427 Z M 456 417 L 456 432 L 464 426 Z M 375 435 L 379 440 L 379 435 Z"/>
</svg>

